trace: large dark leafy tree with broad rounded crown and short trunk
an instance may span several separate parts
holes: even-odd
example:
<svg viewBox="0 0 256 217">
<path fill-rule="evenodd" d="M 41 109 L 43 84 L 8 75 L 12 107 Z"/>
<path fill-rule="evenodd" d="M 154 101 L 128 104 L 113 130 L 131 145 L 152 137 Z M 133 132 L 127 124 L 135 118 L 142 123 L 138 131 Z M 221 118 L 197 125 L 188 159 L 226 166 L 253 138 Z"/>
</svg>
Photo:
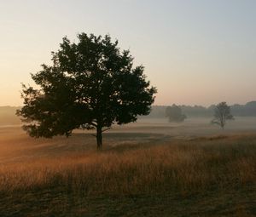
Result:
<svg viewBox="0 0 256 217">
<path fill-rule="evenodd" d="M 17 111 L 33 137 L 72 134 L 75 128 L 96 129 L 97 148 L 102 131 L 113 123 L 135 122 L 148 115 L 156 89 L 133 67 L 129 50 L 106 35 L 81 33 L 78 42 L 63 38 L 52 52 L 52 66 L 32 74 L 38 89 L 23 85 L 24 106 Z"/>
</svg>

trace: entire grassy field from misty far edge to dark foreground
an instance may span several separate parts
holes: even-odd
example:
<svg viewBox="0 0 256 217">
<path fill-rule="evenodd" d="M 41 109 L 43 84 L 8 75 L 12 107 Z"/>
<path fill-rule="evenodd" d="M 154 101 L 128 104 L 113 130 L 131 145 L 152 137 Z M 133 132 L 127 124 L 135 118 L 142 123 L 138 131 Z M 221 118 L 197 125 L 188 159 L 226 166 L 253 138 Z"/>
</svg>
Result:
<svg viewBox="0 0 256 217">
<path fill-rule="evenodd" d="M 256 119 L 142 119 L 104 134 L 0 128 L 0 216 L 255 216 Z"/>
</svg>

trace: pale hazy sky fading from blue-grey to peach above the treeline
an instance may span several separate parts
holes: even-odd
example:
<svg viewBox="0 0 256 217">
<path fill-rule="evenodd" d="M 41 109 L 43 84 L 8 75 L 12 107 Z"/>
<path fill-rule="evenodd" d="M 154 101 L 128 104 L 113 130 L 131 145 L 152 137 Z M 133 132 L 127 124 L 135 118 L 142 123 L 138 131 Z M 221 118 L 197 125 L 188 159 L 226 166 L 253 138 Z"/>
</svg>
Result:
<svg viewBox="0 0 256 217">
<path fill-rule="evenodd" d="M 256 100 L 254 0 L 0 0 L 0 106 L 50 64 L 61 38 L 107 34 L 157 87 L 156 105 Z"/>
</svg>

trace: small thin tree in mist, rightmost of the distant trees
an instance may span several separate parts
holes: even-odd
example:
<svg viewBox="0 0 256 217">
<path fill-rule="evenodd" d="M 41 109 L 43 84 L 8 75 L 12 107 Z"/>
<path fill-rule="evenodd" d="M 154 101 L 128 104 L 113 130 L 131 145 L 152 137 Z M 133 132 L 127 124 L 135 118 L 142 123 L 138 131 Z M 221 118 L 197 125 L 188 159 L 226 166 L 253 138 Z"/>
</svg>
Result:
<svg viewBox="0 0 256 217">
<path fill-rule="evenodd" d="M 228 106 L 226 102 L 221 102 L 214 109 L 212 123 L 218 124 L 224 129 L 228 120 L 234 120 L 234 117 L 230 112 L 230 106 Z"/>
</svg>

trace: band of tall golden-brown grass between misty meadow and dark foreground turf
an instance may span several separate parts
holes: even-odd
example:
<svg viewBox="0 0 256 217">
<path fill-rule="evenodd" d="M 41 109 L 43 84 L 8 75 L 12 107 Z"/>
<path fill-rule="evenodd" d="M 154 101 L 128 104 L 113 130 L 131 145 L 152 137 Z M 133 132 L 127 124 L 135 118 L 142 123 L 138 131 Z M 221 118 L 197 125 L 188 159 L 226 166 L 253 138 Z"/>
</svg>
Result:
<svg viewBox="0 0 256 217">
<path fill-rule="evenodd" d="M 201 138 L 0 166 L 0 192 L 127 195 L 255 185 L 256 138 Z"/>
</svg>

